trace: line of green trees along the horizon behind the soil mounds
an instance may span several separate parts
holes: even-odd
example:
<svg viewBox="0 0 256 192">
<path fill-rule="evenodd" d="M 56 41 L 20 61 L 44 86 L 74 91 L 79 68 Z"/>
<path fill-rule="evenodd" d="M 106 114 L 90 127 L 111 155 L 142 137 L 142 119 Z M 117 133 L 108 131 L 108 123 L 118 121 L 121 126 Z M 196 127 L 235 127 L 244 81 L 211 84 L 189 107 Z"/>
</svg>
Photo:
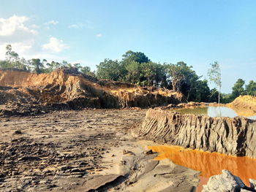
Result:
<svg viewBox="0 0 256 192">
<path fill-rule="evenodd" d="M 12 50 L 11 45 L 7 45 L 6 49 L 6 59 L 0 61 L 0 68 L 17 68 L 35 73 L 48 73 L 61 67 L 74 66 L 80 72 L 98 79 L 129 82 L 139 86 L 155 86 L 178 91 L 184 94 L 187 101 L 220 101 L 226 103 L 233 101 L 239 95 L 256 94 L 256 82 L 250 81 L 248 85 L 244 85 L 245 82 L 241 79 L 235 83 L 232 93 L 220 93 L 221 74 L 217 62 L 211 64 L 211 69 L 208 70 L 209 80 L 216 85 L 216 88 L 210 89 L 208 80 L 202 79 L 202 76 L 197 75 L 193 67 L 187 65 L 184 61 L 176 64 L 159 64 L 151 61 L 144 53 L 132 50 L 124 53 L 120 61 L 106 58 L 97 65 L 96 72 L 91 72 L 89 66 L 69 64 L 67 61 L 61 63 L 48 62 L 45 59 L 41 61 L 39 58 L 26 61 Z"/>
</svg>

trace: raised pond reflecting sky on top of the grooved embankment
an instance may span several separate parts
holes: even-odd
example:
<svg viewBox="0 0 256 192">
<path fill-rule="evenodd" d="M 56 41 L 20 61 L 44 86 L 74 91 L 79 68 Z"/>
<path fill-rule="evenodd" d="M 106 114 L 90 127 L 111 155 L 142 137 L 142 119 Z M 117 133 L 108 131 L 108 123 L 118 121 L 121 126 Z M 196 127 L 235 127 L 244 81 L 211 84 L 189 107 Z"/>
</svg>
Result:
<svg viewBox="0 0 256 192">
<path fill-rule="evenodd" d="M 195 115 L 208 115 L 209 117 L 229 117 L 234 118 L 238 115 L 244 116 L 249 119 L 256 120 L 256 114 L 242 112 L 236 112 L 235 110 L 230 109 L 229 107 L 193 107 L 193 108 L 182 108 L 174 109 L 172 111 L 180 112 L 181 114 L 195 114 Z"/>
</svg>

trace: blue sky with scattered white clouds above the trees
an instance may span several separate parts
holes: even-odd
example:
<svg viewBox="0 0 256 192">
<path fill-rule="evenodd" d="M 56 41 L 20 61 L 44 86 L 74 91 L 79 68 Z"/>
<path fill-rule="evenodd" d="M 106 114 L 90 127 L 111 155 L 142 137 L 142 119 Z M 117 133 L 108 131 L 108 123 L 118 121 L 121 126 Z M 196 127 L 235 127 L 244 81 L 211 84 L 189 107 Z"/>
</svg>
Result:
<svg viewBox="0 0 256 192">
<path fill-rule="evenodd" d="M 12 44 L 21 57 L 78 62 L 96 69 L 127 50 L 151 61 L 192 65 L 207 78 L 222 69 L 222 91 L 256 80 L 256 1 L 1 0 L 0 58 Z"/>
</svg>

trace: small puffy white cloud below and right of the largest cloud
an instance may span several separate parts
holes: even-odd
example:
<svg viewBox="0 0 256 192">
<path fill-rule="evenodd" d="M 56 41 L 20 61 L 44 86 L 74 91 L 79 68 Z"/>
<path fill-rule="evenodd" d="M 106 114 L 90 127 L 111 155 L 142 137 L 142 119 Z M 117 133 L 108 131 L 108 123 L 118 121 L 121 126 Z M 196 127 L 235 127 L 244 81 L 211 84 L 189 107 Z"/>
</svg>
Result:
<svg viewBox="0 0 256 192">
<path fill-rule="evenodd" d="M 50 37 L 49 43 L 42 45 L 42 50 L 50 50 L 54 53 L 59 53 L 61 50 L 69 48 L 63 43 L 63 40 L 57 39 L 56 37 Z"/>
</svg>

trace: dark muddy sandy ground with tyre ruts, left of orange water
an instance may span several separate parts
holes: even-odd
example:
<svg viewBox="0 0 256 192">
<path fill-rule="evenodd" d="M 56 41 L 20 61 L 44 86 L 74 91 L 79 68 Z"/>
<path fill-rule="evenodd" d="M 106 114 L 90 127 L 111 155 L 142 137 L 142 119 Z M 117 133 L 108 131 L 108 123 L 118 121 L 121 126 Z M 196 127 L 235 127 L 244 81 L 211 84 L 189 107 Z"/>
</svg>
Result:
<svg viewBox="0 0 256 192">
<path fill-rule="evenodd" d="M 0 191 L 195 191 L 198 172 L 145 153 L 146 110 L 0 117 Z"/>
</svg>

